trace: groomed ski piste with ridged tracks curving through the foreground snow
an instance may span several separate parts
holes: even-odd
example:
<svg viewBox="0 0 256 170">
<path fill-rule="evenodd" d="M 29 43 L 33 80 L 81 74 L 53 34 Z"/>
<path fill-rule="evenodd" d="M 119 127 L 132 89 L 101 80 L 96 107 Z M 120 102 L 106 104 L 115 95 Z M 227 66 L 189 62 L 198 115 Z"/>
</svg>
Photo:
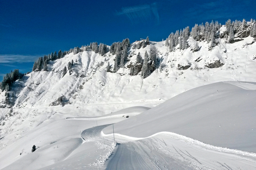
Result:
<svg viewBox="0 0 256 170">
<path fill-rule="evenodd" d="M 108 125 L 84 130 L 85 141 L 113 140 L 103 134 Z M 256 154 L 203 144 L 182 135 L 161 132 L 146 138 L 115 134 L 117 147 L 99 160 L 106 170 L 236 170 L 256 169 Z M 137 140 L 136 140 L 137 139 Z M 132 141 L 135 140 L 135 141 Z M 113 153 L 112 153 L 113 152 Z M 105 162 L 105 165 L 103 163 Z"/>
</svg>

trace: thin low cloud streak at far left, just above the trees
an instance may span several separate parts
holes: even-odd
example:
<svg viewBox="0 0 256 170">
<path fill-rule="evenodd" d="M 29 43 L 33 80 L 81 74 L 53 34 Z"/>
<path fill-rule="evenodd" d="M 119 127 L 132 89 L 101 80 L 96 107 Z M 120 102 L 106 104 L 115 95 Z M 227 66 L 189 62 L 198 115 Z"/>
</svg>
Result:
<svg viewBox="0 0 256 170">
<path fill-rule="evenodd" d="M 43 55 L 0 54 L 0 63 L 34 62 L 38 57 L 42 56 Z"/>
</svg>

